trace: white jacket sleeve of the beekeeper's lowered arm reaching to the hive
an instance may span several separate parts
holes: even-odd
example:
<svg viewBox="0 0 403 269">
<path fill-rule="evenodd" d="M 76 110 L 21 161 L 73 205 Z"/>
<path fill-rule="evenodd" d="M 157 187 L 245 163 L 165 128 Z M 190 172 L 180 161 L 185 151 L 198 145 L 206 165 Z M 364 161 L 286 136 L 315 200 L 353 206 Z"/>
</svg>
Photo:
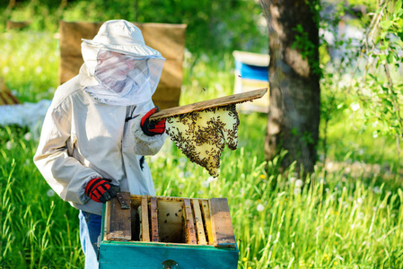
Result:
<svg viewBox="0 0 403 269">
<path fill-rule="evenodd" d="M 68 109 L 54 108 L 53 105 L 48 109 L 33 161 L 49 186 L 63 200 L 85 204 L 90 200 L 85 194 L 88 181 L 101 176 L 71 156 L 72 150 L 68 150 L 71 113 L 66 111 Z"/>
</svg>

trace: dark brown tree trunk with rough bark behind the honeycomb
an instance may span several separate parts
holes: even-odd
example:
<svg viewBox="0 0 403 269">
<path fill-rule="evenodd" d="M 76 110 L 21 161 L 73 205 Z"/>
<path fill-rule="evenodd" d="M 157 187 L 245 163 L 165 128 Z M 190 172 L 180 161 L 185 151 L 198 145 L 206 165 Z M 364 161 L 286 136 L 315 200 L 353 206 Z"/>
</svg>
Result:
<svg viewBox="0 0 403 269">
<path fill-rule="evenodd" d="M 288 151 L 283 167 L 297 161 L 311 172 L 320 124 L 319 0 L 260 0 L 267 18 L 270 106 L 265 153 Z"/>
</svg>

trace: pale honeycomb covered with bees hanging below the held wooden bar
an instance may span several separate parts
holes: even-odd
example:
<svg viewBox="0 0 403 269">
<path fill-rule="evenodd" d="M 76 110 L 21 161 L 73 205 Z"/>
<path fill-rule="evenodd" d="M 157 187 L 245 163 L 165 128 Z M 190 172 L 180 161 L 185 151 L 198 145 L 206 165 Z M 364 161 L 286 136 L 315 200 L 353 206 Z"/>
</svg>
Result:
<svg viewBox="0 0 403 269">
<path fill-rule="evenodd" d="M 167 134 L 190 161 L 218 177 L 225 144 L 237 148 L 239 125 L 235 104 L 230 104 L 168 117 Z"/>
</svg>

